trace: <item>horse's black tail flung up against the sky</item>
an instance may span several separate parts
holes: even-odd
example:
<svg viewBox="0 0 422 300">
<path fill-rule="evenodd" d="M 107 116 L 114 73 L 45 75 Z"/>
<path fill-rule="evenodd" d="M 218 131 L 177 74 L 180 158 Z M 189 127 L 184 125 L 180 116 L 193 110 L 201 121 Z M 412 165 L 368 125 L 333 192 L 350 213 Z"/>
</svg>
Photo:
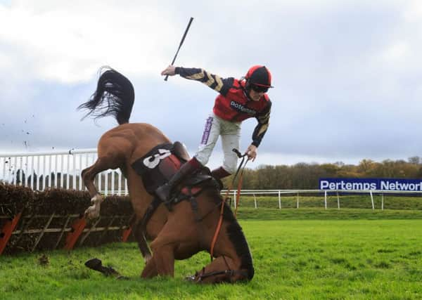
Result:
<svg viewBox="0 0 422 300">
<path fill-rule="evenodd" d="M 103 72 L 103 70 L 106 70 Z M 129 123 L 135 92 L 132 83 L 111 67 L 101 67 L 96 91 L 86 103 L 77 107 L 88 110 L 95 119 L 112 115 L 119 124 Z"/>
</svg>

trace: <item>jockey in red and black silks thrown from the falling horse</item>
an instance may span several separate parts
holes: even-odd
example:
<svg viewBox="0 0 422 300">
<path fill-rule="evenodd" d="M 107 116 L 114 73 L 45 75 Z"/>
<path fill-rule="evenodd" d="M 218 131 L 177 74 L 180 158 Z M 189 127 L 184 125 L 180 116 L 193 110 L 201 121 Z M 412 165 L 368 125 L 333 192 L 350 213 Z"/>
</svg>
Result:
<svg viewBox="0 0 422 300">
<path fill-rule="evenodd" d="M 238 157 L 232 149 L 239 148 L 241 122 L 251 117 L 255 117 L 258 124 L 252 133 L 252 143 L 246 149 L 245 154 L 248 155 L 248 159 L 255 160 L 257 148 L 269 125 L 271 101 L 267 91 L 273 86 L 271 86 L 271 73 L 267 67 L 262 65 L 250 67 L 245 77 L 241 79 L 222 78 L 203 69 L 174 67 L 173 65 L 169 65 L 161 74 L 162 76 L 179 74 L 186 79 L 200 81 L 219 93 L 215 98 L 212 113 L 205 122 L 205 129 L 196 155 L 183 164 L 168 183 L 155 191 L 163 202 L 167 202 L 174 186 L 207 164 L 219 136 L 222 137 L 224 162 L 222 167 L 212 171 L 212 176 L 220 179 L 236 171 Z"/>
</svg>

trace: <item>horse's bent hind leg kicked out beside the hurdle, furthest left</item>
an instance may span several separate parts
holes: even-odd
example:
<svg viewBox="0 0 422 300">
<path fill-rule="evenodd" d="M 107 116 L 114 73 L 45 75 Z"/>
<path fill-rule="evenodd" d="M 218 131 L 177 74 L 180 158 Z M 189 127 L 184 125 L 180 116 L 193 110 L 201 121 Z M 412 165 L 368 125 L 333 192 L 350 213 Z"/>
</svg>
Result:
<svg viewBox="0 0 422 300">
<path fill-rule="evenodd" d="M 92 203 L 92 205 L 85 211 L 85 216 L 88 219 L 98 218 L 100 215 L 101 202 L 103 202 L 103 197 L 100 193 L 98 193 L 98 190 L 94 185 L 95 176 L 102 171 L 106 171 L 107 169 L 117 169 L 117 167 L 119 167 L 117 157 L 115 157 L 115 155 L 107 155 L 98 157 L 91 167 L 82 171 L 82 179 L 84 181 L 84 185 L 88 189 L 89 195 L 91 196 Z"/>
</svg>

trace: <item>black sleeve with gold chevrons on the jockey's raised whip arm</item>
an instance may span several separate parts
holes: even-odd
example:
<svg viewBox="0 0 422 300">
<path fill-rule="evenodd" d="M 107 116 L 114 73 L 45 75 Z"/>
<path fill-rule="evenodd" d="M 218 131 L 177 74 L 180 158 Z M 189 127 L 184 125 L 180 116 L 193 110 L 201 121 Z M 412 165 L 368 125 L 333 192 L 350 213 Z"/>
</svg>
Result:
<svg viewBox="0 0 422 300">
<path fill-rule="evenodd" d="M 227 94 L 234 81 L 233 77 L 222 78 L 196 67 L 176 67 L 174 72 L 186 79 L 200 81 L 211 89 L 221 93 L 223 96 Z"/>
</svg>

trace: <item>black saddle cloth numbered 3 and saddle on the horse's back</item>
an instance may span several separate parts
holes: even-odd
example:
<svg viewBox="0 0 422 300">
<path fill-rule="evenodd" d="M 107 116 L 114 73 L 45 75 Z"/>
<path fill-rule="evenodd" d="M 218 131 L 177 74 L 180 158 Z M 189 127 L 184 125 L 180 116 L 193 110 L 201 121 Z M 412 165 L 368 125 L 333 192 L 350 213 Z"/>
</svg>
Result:
<svg viewBox="0 0 422 300">
<path fill-rule="evenodd" d="M 136 159 L 132 164 L 132 168 L 141 176 L 146 191 L 154 195 L 155 190 L 167 183 L 188 159 L 188 153 L 181 143 L 164 143 L 151 149 L 144 157 Z M 186 178 L 181 183 L 183 188 L 180 190 L 175 189 L 175 193 L 172 193 L 172 200 L 170 200 L 170 203 L 166 203 L 167 208 L 171 209 L 171 204 L 198 195 L 205 186 L 209 185 L 204 186 L 201 184 L 200 187 L 196 185 L 205 181 L 210 182 L 217 188 L 220 187 L 219 183 L 211 176 L 210 169 L 204 167 L 191 177 Z"/>
</svg>

